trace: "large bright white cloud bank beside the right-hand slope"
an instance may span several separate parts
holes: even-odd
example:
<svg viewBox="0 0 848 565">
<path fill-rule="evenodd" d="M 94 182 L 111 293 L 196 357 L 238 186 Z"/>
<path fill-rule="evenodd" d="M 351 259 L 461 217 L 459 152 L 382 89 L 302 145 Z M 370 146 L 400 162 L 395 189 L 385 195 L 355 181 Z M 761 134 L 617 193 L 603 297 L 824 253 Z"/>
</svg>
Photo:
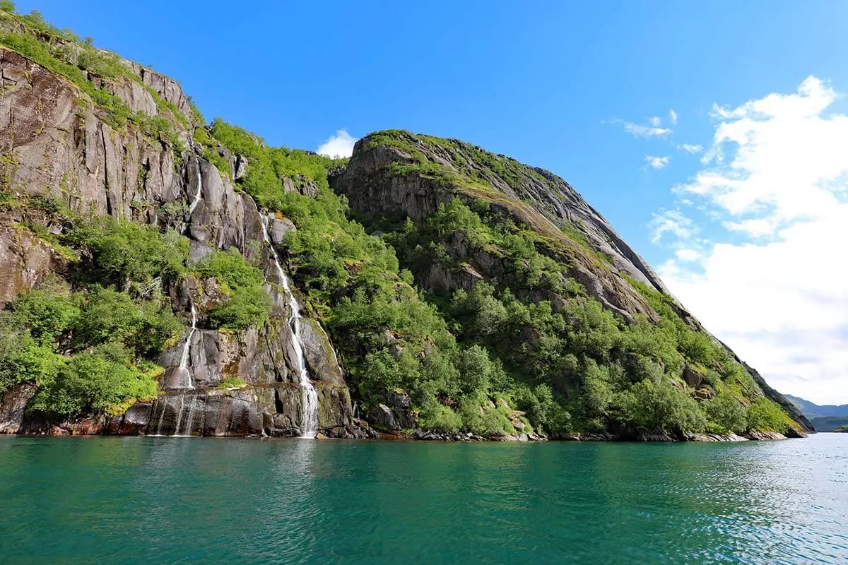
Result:
<svg viewBox="0 0 848 565">
<path fill-rule="evenodd" d="M 674 191 L 727 235 L 696 258 L 698 226 L 671 227 L 668 211 L 651 223 L 654 241 L 678 237 L 660 269 L 672 293 L 769 384 L 818 403 L 848 402 L 848 116 L 825 114 L 837 97 L 811 76 L 715 106 L 703 168 Z"/>
</svg>

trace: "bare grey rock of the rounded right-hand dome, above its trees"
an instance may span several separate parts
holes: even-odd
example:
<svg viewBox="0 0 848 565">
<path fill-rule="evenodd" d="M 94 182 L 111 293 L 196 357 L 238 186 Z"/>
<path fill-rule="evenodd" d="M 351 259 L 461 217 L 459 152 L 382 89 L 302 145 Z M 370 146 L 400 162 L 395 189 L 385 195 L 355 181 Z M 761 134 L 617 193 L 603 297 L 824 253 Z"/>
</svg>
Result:
<svg viewBox="0 0 848 565">
<path fill-rule="evenodd" d="M 697 334 L 708 336 L 729 355 L 730 363 L 750 375 L 753 383 L 747 393 L 751 397 L 766 396 L 783 407 L 802 429 L 812 431 L 812 425 L 791 402 L 709 334 L 600 213 L 550 171 L 463 141 L 391 130 L 358 141 L 347 168 L 332 179 L 332 184 L 348 197 L 351 208 L 365 223 L 378 230 L 392 230 L 392 220 L 398 214 L 416 224 L 427 224 L 440 207 L 456 198 L 472 208 L 482 205 L 488 223 L 514 223 L 532 232 L 533 245 L 553 258 L 563 275 L 572 277 L 603 307 L 630 322 L 639 316 L 652 322 L 661 317 L 640 289 L 640 284 L 646 285 L 650 293 L 663 297 L 663 305 L 675 318 Z M 509 254 L 491 244 L 475 246 L 466 235 L 456 230 L 444 239 L 448 261 L 431 261 L 416 269 L 416 279 L 427 291 L 449 294 L 470 290 L 478 281 L 508 285 Z M 409 266 L 415 269 L 413 263 Z M 515 290 L 515 286 L 512 288 Z M 534 302 L 568 302 L 562 293 L 550 290 L 533 289 L 528 297 Z M 717 359 L 710 363 L 718 368 Z M 681 380 L 698 389 L 706 385 L 704 376 L 702 368 L 685 363 Z M 701 392 L 710 397 L 714 391 L 706 385 Z"/>
</svg>

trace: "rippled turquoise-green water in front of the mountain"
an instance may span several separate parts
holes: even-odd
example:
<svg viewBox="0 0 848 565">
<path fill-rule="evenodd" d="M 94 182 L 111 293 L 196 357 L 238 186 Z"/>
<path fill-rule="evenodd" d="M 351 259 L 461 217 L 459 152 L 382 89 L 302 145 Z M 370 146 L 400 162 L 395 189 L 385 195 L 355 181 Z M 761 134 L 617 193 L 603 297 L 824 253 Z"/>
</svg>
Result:
<svg viewBox="0 0 848 565">
<path fill-rule="evenodd" d="M 0 562 L 845 563 L 848 435 L 0 438 Z"/>
</svg>

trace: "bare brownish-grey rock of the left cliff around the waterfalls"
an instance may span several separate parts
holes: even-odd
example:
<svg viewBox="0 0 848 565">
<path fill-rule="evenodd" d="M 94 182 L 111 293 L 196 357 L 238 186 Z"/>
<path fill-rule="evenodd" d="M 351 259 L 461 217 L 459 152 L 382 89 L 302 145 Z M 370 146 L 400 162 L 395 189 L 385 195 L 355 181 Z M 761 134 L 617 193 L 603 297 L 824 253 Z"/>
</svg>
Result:
<svg viewBox="0 0 848 565">
<path fill-rule="evenodd" d="M 176 81 L 125 64 L 190 124 L 188 101 Z M 163 394 L 152 403 L 139 402 L 118 417 L 80 418 L 56 427 L 25 417 L 23 408 L 34 387 L 21 385 L 0 396 L 0 432 L 296 435 L 302 407 L 286 324 L 289 306 L 277 288 L 280 281 L 268 247 L 248 245 L 263 241 L 259 209 L 228 180 L 233 171 L 244 174 L 249 163 L 232 158 L 232 171 L 221 174 L 201 157 L 199 147 L 192 147 L 189 130 L 176 122 L 178 137 L 190 148 L 175 160 L 170 141 L 151 139 L 131 124 L 114 130 L 103 121 L 102 110 L 80 103 L 82 95 L 75 86 L 2 47 L 0 77 L 0 151 L 8 157 L 0 173 L 16 197 L 52 197 L 80 213 L 168 225 L 190 238 L 191 262 L 214 249 L 235 247 L 265 270 L 273 302 L 270 324 L 236 334 L 206 329 L 201 314 L 198 330 L 191 334 L 187 368 L 179 365 L 188 330 L 160 358 L 165 367 L 159 383 Z M 157 115 L 153 97 L 136 82 L 117 80 L 108 88 L 133 111 Z M 198 186 L 201 200 L 190 216 L 171 218 L 161 212 L 170 202 L 184 204 L 187 210 Z M 59 253 L 19 223 L 20 215 L 0 213 L 0 304 L 35 287 L 47 274 L 64 272 Z M 60 233 L 61 226 L 53 227 Z M 287 220 L 275 219 L 272 241 L 279 243 L 293 229 Z M 187 324 L 191 303 L 203 310 L 204 301 L 214 296 L 197 281 L 165 290 Z M 306 359 L 321 403 L 319 427 L 343 428 L 351 423 L 351 405 L 341 368 L 321 325 L 311 319 L 304 322 Z M 187 376 L 195 390 L 180 389 Z M 246 385 L 217 389 L 227 378 Z"/>
</svg>

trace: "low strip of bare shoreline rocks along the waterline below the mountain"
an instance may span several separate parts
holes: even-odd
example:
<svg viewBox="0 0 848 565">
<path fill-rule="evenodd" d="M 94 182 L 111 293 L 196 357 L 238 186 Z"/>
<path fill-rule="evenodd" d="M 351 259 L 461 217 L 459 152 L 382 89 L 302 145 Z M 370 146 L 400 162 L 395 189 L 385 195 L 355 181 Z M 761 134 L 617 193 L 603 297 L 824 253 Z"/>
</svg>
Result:
<svg viewBox="0 0 848 565">
<path fill-rule="evenodd" d="M 279 388 L 279 387 L 277 387 Z M 39 418 L 26 413 L 26 404 L 35 391 L 34 385 L 19 385 L 13 391 L 0 395 L 0 435 L 148 435 L 170 437 L 295 437 L 299 435 L 296 418 L 284 421 L 279 414 L 257 409 L 261 387 L 241 389 L 212 389 L 192 391 L 178 395 L 163 394 L 153 402 L 137 402 L 117 416 L 92 414 L 60 422 Z M 325 402 L 332 402 L 328 395 Z M 186 399 L 192 403 L 186 404 Z M 177 404 L 177 402 L 179 402 Z M 335 402 L 339 402 L 336 400 Z M 647 433 L 622 429 L 618 434 L 573 433 L 545 435 L 522 430 L 515 418 L 515 433 L 474 434 L 471 432 L 444 432 L 416 427 L 416 418 L 410 413 L 409 396 L 396 394 L 391 406 L 379 405 L 368 418 L 329 418 L 324 414 L 317 439 L 338 440 L 417 440 L 417 441 L 662 441 L 662 442 L 717 442 L 785 440 L 789 437 L 806 437 L 806 433 L 789 435 L 777 432 L 746 432 L 742 435 Z M 261 405 L 261 402 L 259 402 Z M 329 410 L 330 413 L 343 410 Z M 297 416 L 293 410 L 292 415 Z M 403 428 L 401 427 L 403 425 Z"/>
</svg>

